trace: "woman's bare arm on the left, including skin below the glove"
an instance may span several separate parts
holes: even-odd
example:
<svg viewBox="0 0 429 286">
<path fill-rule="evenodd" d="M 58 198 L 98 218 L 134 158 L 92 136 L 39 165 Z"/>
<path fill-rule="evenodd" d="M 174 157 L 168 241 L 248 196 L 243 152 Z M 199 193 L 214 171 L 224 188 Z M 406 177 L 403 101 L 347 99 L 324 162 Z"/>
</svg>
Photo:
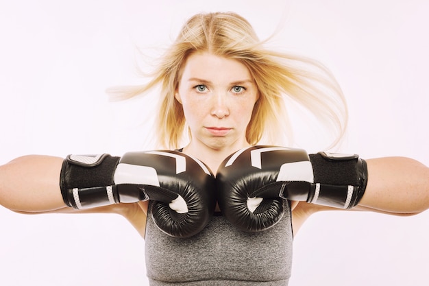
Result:
<svg viewBox="0 0 429 286">
<path fill-rule="evenodd" d="M 0 166 L 0 204 L 11 211 L 38 213 L 116 213 L 145 237 L 147 202 L 76 210 L 64 204 L 60 190 L 63 158 L 29 155 Z"/>
</svg>

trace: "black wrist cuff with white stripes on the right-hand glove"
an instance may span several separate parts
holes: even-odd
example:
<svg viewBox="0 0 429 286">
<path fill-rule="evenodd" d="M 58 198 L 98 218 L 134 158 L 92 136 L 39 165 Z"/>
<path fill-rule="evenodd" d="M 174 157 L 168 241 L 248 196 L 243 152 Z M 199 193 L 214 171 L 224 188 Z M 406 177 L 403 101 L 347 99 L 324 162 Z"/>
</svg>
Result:
<svg viewBox="0 0 429 286">
<path fill-rule="evenodd" d="M 358 155 L 310 154 L 314 184 L 307 202 L 352 208 L 360 202 L 368 180 L 367 164 Z"/>
</svg>

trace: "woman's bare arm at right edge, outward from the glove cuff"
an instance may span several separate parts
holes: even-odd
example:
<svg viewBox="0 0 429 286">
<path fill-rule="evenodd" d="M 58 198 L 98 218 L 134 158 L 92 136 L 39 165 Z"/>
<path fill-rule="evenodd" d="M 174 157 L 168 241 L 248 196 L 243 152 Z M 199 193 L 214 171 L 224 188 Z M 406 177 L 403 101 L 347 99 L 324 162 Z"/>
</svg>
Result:
<svg viewBox="0 0 429 286">
<path fill-rule="evenodd" d="M 429 168 L 404 157 L 367 161 L 368 183 L 356 210 L 410 215 L 429 208 Z"/>
</svg>

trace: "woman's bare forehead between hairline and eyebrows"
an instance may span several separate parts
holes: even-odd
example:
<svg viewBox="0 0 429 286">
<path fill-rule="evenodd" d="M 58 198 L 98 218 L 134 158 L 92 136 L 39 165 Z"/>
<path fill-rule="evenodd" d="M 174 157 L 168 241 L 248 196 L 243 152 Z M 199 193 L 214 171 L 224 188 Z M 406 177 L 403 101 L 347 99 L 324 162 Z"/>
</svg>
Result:
<svg viewBox="0 0 429 286">
<path fill-rule="evenodd" d="M 182 79 L 195 77 L 208 80 L 252 80 L 249 69 L 242 62 L 209 52 L 193 53 L 186 59 Z"/>
</svg>

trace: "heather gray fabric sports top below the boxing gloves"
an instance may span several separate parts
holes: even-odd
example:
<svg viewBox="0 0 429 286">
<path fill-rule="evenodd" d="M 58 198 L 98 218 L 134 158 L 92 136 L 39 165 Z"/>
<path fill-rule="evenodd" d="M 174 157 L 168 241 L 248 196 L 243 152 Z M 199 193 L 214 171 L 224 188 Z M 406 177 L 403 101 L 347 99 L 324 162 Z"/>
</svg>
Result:
<svg viewBox="0 0 429 286">
<path fill-rule="evenodd" d="M 292 265 L 291 210 L 261 233 L 237 230 L 215 216 L 188 239 L 169 237 L 147 214 L 145 256 L 151 286 L 288 285 Z"/>
</svg>

